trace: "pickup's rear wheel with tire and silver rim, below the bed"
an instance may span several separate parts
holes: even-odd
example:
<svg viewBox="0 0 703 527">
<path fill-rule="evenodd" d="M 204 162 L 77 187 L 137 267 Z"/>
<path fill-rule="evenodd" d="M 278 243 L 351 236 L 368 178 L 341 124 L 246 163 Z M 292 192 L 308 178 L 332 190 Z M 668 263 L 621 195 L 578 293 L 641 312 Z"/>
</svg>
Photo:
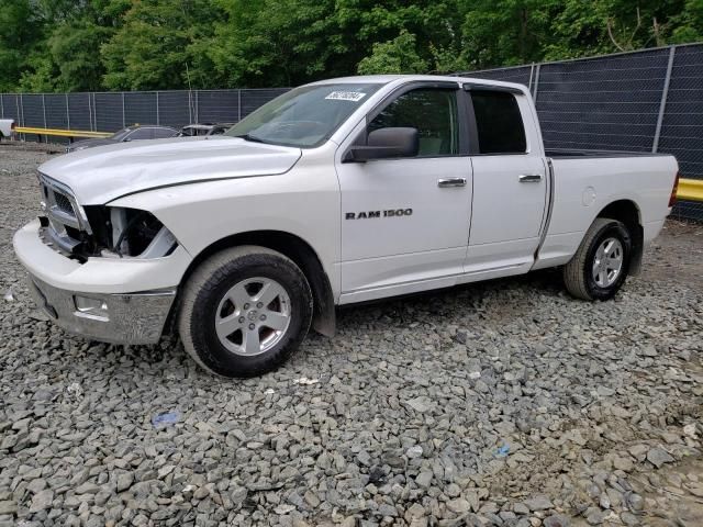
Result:
<svg viewBox="0 0 703 527">
<path fill-rule="evenodd" d="M 610 256 L 606 254 L 609 247 Z M 606 250 L 599 253 L 600 249 Z M 578 299 L 612 299 L 625 283 L 631 258 L 632 236 L 625 224 L 596 217 L 576 255 L 563 267 L 563 282 L 569 293 Z"/>
</svg>

